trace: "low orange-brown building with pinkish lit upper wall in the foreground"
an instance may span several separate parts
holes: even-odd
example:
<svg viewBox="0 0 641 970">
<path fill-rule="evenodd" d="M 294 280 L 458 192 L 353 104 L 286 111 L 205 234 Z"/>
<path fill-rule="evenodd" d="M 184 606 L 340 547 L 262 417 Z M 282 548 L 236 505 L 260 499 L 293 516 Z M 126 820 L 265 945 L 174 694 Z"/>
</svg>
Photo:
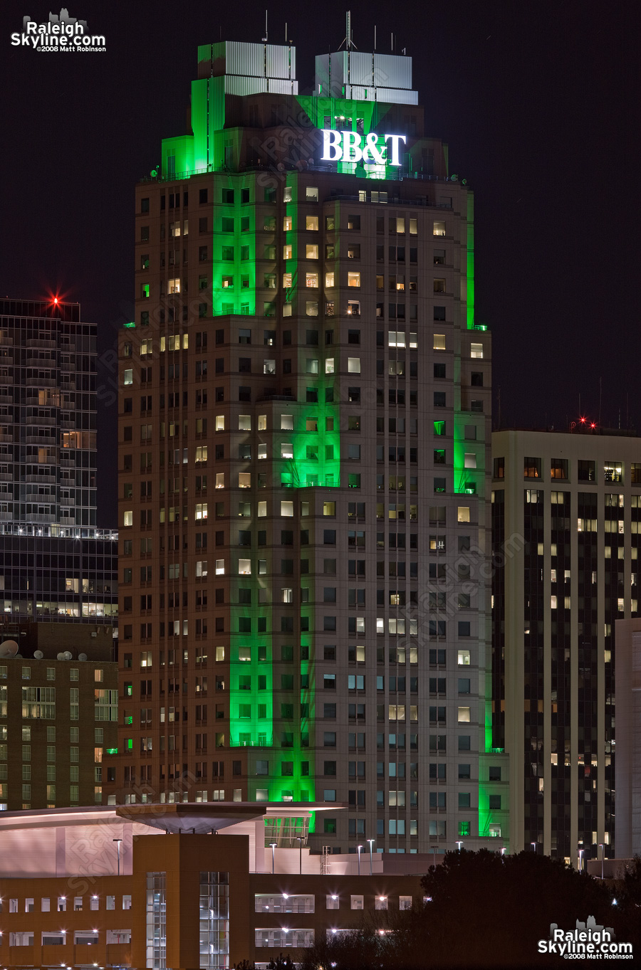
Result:
<svg viewBox="0 0 641 970">
<path fill-rule="evenodd" d="M 422 906 L 421 866 L 431 855 L 408 857 L 405 869 L 394 857 L 374 857 L 371 872 L 365 857 L 360 872 L 354 856 L 333 857 L 321 872 L 307 849 L 279 848 L 272 872 L 272 851 L 256 834 L 262 806 L 135 807 L 148 811 L 0 817 L 7 970 L 227 970 L 242 960 L 267 967 L 280 953 L 300 959 L 327 936 L 386 927 L 394 911 Z M 322 809 L 311 803 L 305 811 Z"/>
</svg>

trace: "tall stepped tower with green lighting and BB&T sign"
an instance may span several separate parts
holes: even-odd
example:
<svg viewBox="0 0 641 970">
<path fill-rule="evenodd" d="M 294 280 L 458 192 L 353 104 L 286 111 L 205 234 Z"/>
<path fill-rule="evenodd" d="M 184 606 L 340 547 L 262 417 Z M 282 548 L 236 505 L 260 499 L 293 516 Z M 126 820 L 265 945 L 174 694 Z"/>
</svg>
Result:
<svg viewBox="0 0 641 970">
<path fill-rule="evenodd" d="M 335 851 L 507 836 L 473 200 L 411 75 L 348 45 L 300 95 L 293 47 L 201 47 L 137 186 L 114 802 L 344 802 Z"/>
</svg>

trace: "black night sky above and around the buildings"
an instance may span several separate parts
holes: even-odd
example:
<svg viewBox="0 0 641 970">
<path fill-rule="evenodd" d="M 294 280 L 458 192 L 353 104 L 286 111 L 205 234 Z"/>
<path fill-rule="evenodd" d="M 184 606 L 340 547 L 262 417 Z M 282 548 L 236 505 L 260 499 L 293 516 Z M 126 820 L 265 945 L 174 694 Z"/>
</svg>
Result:
<svg viewBox="0 0 641 970">
<path fill-rule="evenodd" d="M 11 46 L 44 0 L 0 5 L 0 292 L 57 290 L 98 324 L 100 514 L 116 524 L 113 347 L 133 297 L 133 187 L 185 130 L 196 47 L 259 41 L 264 3 L 68 0 L 106 53 Z M 427 133 L 476 193 L 477 319 L 493 333 L 494 420 L 641 428 L 640 5 L 631 0 L 352 3 L 354 43 L 414 58 Z M 56 12 L 58 7 L 55 6 Z M 346 6 L 270 3 L 269 40 L 337 49 Z M 629 400 L 629 404 L 627 404 Z"/>
</svg>

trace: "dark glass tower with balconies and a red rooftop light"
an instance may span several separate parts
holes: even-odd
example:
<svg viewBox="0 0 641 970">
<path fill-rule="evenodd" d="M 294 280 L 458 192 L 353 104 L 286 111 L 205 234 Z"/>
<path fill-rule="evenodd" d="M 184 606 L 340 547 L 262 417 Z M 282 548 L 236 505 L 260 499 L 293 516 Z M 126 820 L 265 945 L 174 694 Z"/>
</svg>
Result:
<svg viewBox="0 0 641 970">
<path fill-rule="evenodd" d="M 96 529 L 96 325 L 78 304 L 0 300 L 2 632 L 114 624 L 118 534 Z"/>
</svg>

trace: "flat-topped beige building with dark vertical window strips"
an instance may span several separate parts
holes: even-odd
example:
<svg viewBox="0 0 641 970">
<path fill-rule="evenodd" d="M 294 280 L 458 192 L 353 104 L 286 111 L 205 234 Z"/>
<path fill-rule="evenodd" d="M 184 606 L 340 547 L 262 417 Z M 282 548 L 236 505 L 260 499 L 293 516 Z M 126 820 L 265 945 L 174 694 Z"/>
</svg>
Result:
<svg viewBox="0 0 641 970">
<path fill-rule="evenodd" d="M 638 616 L 641 443 L 492 435 L 493 731 L 512 850 L 615 855 L 615 623 Z M 617 855 L 621 856 L 619 849 Z"/>
</svg>

